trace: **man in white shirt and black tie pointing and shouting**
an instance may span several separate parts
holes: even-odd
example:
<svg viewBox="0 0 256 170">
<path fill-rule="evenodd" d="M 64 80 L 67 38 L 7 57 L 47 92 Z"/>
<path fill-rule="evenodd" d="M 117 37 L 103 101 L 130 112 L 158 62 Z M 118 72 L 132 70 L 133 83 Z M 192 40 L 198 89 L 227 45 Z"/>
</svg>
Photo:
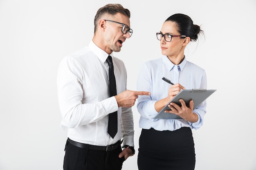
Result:
<svg viewBox="0 0 256 170">
<path fill-rule="evenodd" d="M 131 35 L 130 11 L 120 4 L 107 4 L 95 15 L 89 45 L 60 63 L 57 87 L 61 127 L 68 137 L 64 170 L 120 170 L 124 160 L 135 153 L 131 106 L 138 95 L 150 93 L 126 90 L 126 68 L 112 53 L 119 52 Z M 114 76 L 110 67 L 114 67 Z M 113 77 L 115 85 L 110 84 Z M 116 111 L 117 129 L 112 134 L 108 128 L 115 123 L 108 121 Z"/>
</svg>

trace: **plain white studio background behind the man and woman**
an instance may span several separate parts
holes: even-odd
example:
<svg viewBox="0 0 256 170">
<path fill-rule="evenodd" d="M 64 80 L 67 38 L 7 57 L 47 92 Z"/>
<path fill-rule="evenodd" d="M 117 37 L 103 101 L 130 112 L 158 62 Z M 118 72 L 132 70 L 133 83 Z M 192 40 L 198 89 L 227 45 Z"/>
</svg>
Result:
<svg viewBox="0 0 256 170">
<path fill-rule="evenodd" d="M 201 25 L 205 38 L 185 55 L 217 91 L 207 99 L 204 125 L 192 130 L 195 170 L 256 170 L 255 0 L 0 0 L 0 170 L 62 169 L 67 137 L 59 127 L 58 64 L 90 42 L 94 16 L 107 3 L 131 12 L 134 33 L 114 54 L 126 64 L 130 90 L 141 65 L 161 57 L 155 33 L 170 15 L 184 13 Z M 137 170 L 137 154 L 123 170 Z"/>
</svg>

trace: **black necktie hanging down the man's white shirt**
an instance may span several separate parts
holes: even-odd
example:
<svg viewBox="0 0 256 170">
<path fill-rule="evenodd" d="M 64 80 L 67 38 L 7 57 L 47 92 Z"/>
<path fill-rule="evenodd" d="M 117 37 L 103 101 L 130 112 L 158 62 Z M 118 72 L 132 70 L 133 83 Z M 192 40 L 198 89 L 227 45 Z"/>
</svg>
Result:
<svg viewBox="0 0 256 170">
<path fill-rule="evenodd" d="M 109 91 L 110 97 L 117 95 L 116 79 L 114 75 L 114 67 L 112 57 L 109 55 L 107 58 L 108 73 L 109 73 Z M 114 138 L 117 134 L 117 111 L 110 113 L 108 118 L 108 134 Z"/>
</svg>

